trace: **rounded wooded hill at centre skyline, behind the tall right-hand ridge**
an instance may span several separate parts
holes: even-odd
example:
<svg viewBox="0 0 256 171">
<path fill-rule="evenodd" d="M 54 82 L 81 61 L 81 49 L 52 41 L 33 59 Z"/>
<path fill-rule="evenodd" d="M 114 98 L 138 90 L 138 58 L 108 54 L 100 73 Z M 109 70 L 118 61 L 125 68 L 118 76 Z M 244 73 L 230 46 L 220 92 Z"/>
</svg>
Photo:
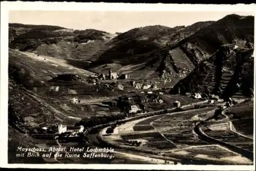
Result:
<svg viewBox="0 0 256 171">
<path fill-rule="evenodd" d="M 169 28 L 156 25 L 135 28 L 119 34 L 110 42 L 106 43 L 102 47 L 102 50 L 95 54 L 95 57 L 99 58 L 98 62 L 103 61 L 104 63 L 105 59 L 109 58 L 111 60 L 118 60 L 120 55 L 124 57 L 150 53 L 184 39 L 202 27 L 210 25 L 212 22 L 213 21 L 198 22 L 188 27 L 179 26 Z M 119 55 L 115 55 L 115 53 Z"/>
</svg>

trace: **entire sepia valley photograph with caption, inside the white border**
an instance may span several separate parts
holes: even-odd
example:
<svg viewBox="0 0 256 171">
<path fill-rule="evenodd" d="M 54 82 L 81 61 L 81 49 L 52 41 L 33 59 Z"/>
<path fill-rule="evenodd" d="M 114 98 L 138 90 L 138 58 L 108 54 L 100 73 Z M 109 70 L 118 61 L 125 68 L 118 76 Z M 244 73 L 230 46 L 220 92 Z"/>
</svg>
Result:
<svg viewBox="0 0 256 171">
<path fill-rule="evenodd" d="M 8 164 L 255 164 L 252 11 L 10 10 L 7 25 Z"/>
</svg>

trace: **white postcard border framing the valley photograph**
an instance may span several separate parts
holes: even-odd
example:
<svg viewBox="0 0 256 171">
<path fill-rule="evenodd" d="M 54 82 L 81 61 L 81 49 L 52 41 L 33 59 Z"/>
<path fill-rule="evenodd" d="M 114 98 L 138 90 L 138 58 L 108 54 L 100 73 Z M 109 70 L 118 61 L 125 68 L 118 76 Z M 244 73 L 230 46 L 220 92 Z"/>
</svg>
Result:
<svg viewBox="0 0 256 171">
<path fill-rule="evenodd" d="M 1 167 L 10 168 L 90 168 L 90 169 L 174 169 L 174 170 L 254 170 L 254 165 L 149 165 L 149 164 L 8 164 L 8 12 L 10 10 L 67 10 L 67 11 L 248 11 L 255 16 L 256 6 L 250 5 L 189 5 L 189 4 L 123 4 L 123 3 L 46 3 L 46 2 L 1 2 L 1 115 L 0 115 L 0 151 Z M 255 20 L 255 18 L 254 18 Z M 254 21 L 255 34 L 255 21 Z M 254 50 L 255 50 L 254 35 Z M 254 51 L 255 57 L 255 51 Z M 254 61 L 254 73 L 255 61 Z M 254 74 L 255 94 L 255 74 Z M 255 97 L 254 97 L 254 133 L 255 137 Z M 255 150 L 255 139 L 254 139 Z"/>
</svg>

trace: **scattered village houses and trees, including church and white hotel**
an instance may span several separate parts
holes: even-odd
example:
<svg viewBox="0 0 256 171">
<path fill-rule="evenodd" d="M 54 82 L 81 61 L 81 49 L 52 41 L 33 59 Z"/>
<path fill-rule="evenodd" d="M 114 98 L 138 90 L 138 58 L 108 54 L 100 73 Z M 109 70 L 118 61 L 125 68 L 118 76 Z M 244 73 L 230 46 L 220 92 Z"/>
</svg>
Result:
<svg viewBox="0 0 256 171">
<path fill-rule="evenodd" d="M 111 76 L 111 77 L 110 77 Z M 111 72 L 110 76 L 107 77 L 112 81 L 117 81 L 117 74 Z M 113 77 L 114 76 L 114 77 Z M 124 75 L 124 79 L 129 78 L 129 76 Z M 200 93 L 186 93 L 185 95 L 171 95 L 165 94 L 164 91 L 161 91 L 160 88 L 157 88 L 155 85 L 150 84 L 139 84 L 135 81 L 129 81 L 129 84 L 134 88 L 133 92 L 126 93 L 125 95 L 121 95 L 116 99 L 111 101 L 102 102 L 103 105 L 109 106 L 110 108 L 117 108 L 119 113 L 125 115 L 125 117 L 133 117 L 135 115 L 141 115 L 146 113 L 154 113 L 158 111 L 162 111 L 163 109 L 172 109 L 177 108 L 180 109 L 182 106 L 186 106 L 188 104 L 193 103 L 201 103 L 207 100 L 207 104 L 215 104 L 222 103 L 223 100 L 219 98 L 218 95 L 211 94 L 208 97 L 202 96 Z M 168 99 L 171 97 L 171 99 Z M 73 105 L 80 105 L 80 100 L 75 96 L 71 100 Z M 234 103 L 230 100 L 230 104 Z M 22 132 L 31 134 L 36 138 L 43 139 L 62 139 L 69 141 L 80 141 L 80 138 L 83 138 L 84 132 L 87 132 L 87 129 L 82 126 L 73 126 L 67 124 L 56 124 L 52 123 L 50 111 L 47 108 L 42 108 L 42 113 L 39 115 L 35 115 L 31 113 L 31 115 L 21 116 L 18 114 L 14 114 L 12 118 L 15 118 L 13 122 L 17 128 L 19 128 Z M 52 116 L 54 117 L 54 116 Z M 54 118 L 52 118 L 54 119 Z"/>
</svg>

